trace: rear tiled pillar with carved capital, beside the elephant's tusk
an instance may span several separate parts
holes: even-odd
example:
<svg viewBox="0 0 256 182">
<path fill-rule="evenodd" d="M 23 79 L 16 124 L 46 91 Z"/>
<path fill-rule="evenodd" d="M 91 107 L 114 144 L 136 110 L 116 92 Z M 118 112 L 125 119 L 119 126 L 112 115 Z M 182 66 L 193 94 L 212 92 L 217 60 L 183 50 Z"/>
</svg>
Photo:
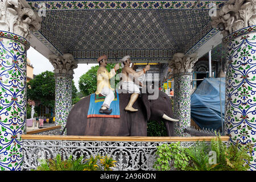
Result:
<svg viewBox="0 0 256 182">
<path fill-rule="evenodd" d="M 189 127 L 191 123 L 191 76 L 193 65 L 197 59 L 195 55 L 187 56 L 183 53 L 175 53 L 169 62 L 174 77 L 174 118 L 179 119 L 179 122 L 175 122 L 175 136 L 189 136 L 189 134 L 184 133 L 184 129 Z"/>
</svg>

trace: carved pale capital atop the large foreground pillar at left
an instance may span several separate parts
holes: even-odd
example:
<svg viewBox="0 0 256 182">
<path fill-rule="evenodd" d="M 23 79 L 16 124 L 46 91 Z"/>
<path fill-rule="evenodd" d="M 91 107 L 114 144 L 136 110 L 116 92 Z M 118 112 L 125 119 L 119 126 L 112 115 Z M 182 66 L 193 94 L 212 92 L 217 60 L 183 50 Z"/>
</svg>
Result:
<svg viewBox="0 0 256 182">
<path fill-rule="evenodd" d="M 30 31 L 39 30 L 42 18 L 28 5 L 26 0 L 0 1 L 0 30 L 8 31 L 25 39 L 30 38 Z"/>
</svg>

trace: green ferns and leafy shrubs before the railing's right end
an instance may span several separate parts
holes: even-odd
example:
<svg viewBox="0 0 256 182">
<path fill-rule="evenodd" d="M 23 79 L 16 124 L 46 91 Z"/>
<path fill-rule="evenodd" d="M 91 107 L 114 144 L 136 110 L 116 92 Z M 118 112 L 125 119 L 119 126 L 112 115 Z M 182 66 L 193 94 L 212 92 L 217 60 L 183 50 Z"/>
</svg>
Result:
<svg viewBox="0 0 256 182">
<path fill-rule="evenodd" d="M 209 156 L 209 152 L 214 154 Z M 160 171 L 168 171 L 171 166 L 177 170 L 191 171 L 247 171 L 253 160 L 251 144 L 241 146 L 240 144 L 230 144 L 226 146 L 220 136 L 212 139 L 210 144 L 196 142 L 195 146 L 182 148 L 180 143 L 162 144 L 157 147 L 154 168 Z M 216 153 L 215 153 L 216 152 Z M 216 163 L 210 164 L 211 159 L 216 159 Z"/>
</svg>

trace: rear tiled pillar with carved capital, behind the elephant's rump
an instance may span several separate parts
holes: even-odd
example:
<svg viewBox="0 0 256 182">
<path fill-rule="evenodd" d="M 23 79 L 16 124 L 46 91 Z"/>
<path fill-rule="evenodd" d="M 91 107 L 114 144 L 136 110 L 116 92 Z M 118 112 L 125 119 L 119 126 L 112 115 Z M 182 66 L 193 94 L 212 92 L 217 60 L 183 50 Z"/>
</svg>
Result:
<svg viewBox="0 0 256 182">
<path fill-rule="evenodd" d="M 72 108 L 73 69 L 77 68 L 77 61 L 69 53 L 50 55 L 49 61 L 55 68 L 55 125 L 60 125 L 62 131 Z"/>
</svg>

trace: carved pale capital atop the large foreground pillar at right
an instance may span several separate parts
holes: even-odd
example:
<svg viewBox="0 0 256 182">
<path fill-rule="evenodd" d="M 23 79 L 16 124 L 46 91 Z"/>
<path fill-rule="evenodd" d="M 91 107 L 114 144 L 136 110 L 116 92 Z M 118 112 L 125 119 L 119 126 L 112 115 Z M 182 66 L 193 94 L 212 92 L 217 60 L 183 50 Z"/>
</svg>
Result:
<svg viewBox="0 0 256 182">
<path fill-rule="evenodd" d="M 256 0 L 229 0 L 212 16 L 212 27 L 226 37 L 242 28 L 256 24 Z"/>
</svg>

